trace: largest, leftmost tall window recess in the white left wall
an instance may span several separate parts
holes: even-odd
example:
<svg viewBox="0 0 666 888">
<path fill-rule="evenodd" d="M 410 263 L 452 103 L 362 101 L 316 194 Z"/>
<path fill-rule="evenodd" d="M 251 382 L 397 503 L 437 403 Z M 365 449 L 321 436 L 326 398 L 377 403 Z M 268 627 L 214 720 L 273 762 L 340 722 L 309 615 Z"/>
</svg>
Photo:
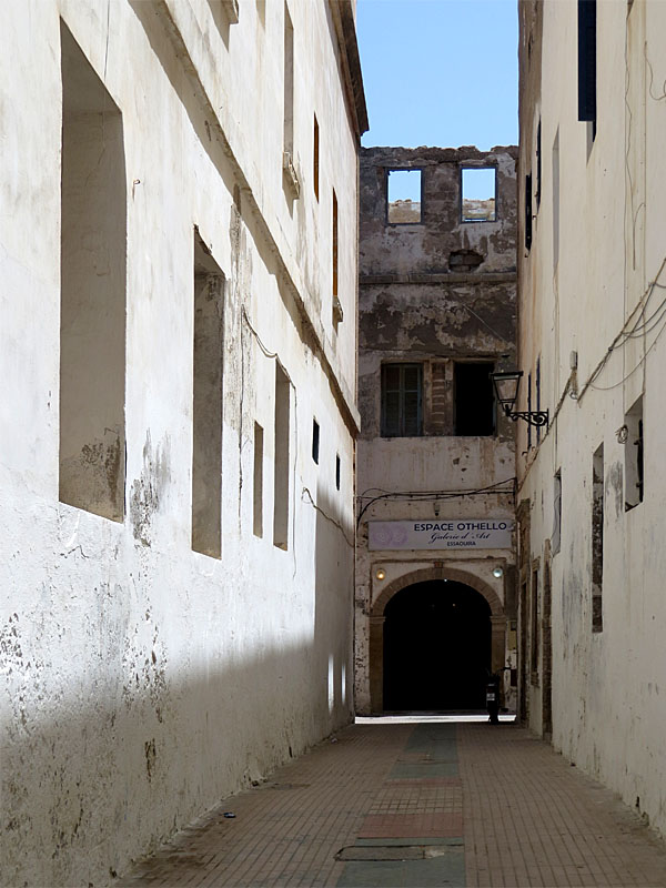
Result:
<svg viewBox="0 0 666 888">
<path fill-rule="evenodd" d="M 127 206 L 122 114 L 61 22 L 62 503 L 122 522 Z"/>
</svg>

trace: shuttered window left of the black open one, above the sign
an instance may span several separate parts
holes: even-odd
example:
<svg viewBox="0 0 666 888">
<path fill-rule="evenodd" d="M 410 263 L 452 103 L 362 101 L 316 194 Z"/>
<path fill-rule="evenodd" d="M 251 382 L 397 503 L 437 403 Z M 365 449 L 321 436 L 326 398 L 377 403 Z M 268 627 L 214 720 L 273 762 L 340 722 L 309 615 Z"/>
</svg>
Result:
<svg viewBox="0 0 666 888">
<path fill-rule="evenodd" d="M 421 364 L 382 365 L 382 437 L 423 434 L 423 367 Z"/>
</svg>

